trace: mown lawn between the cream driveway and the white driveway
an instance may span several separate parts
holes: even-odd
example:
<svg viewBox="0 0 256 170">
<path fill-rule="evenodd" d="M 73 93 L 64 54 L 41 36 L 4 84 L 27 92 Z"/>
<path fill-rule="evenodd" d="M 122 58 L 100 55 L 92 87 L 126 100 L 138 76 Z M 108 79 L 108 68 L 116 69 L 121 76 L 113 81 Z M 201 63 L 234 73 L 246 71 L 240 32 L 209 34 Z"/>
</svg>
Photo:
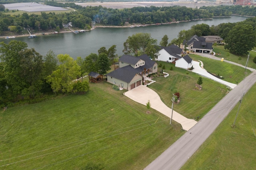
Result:
<svg viewBox="0 0 256 170">
<path fill-rule="evenodd" d="M 178 113 L 188 117 L 190 119 L 196 119 L 196 117 L 203 117 L 218 101 L 220 101 L 227 92 L 225 85 L 218 82 L 214 82 L 208 78 L 203 78 L 202 90 L 194 90 L 197 83 L 198 74 L 189 72 L 186 74 L 186 70 L 181 68 L 175 68 L 174 64 L 166 62 L 158 62 L 158 65 L 162 63 L 166 69 L 164 72 L 170 74 L 170 76 L 156 77 L 155 83 L 148 86 L 157 92 L 162 101 L 168 106 L 172 107 L 172 94 L 175 92 L 180 93 L 180 103 L 174 105 L 174 110 Z M 170 67 L 173 67 L 173 71 Z M 158 67 L 160 70 L 161 68 Z"/>
</svg>

